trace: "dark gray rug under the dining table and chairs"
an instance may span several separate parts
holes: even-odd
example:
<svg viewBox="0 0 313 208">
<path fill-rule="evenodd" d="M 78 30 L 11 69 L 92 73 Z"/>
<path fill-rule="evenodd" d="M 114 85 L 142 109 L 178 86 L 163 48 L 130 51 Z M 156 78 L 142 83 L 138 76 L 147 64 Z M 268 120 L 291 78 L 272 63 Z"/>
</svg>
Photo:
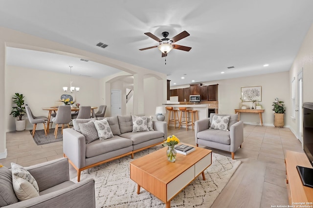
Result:
<svg viewBox="0 0 313 208">
<path fill-rule="evenodd" d="M 30 134 L 32 130 L 29 131 Z M 34 141 L 37 145 L 45 145 L 52 142 L 59 142 L 63 140 L 63 136 L 61 134 L 61 128 L 58 129 L 57 138 L 55 139 L 54 129 L 49 129 L 49 133 L 47 133 L 47 136 L 45 136 L 45 130 L 36 130 L 34 135 Z"/>
</svg>

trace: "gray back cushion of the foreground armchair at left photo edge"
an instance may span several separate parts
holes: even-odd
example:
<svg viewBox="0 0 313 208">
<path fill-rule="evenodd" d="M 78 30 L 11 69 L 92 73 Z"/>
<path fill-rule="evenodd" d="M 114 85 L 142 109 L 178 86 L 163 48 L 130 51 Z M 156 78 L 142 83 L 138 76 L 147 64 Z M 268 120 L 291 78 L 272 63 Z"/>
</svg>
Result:
<svg viewBox="0 0 313 208">
<path fill-rule="evenodd" d="M 19 202 L 12 184 L 12 172 L 0 164 L 0 207 Z"/>
</svg>

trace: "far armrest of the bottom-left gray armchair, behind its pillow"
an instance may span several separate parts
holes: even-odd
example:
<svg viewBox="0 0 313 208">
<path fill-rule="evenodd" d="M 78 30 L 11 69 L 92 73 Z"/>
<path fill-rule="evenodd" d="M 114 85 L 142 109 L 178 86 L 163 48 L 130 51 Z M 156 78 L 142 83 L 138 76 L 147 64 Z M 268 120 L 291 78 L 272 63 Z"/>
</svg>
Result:
<svg viewBox="0 0 313 208">
<path fill-rule="evenodd" d="M 67 158 L 60 158 L 25 168 L 43 191 L 69 180 Z"/>
</svg>

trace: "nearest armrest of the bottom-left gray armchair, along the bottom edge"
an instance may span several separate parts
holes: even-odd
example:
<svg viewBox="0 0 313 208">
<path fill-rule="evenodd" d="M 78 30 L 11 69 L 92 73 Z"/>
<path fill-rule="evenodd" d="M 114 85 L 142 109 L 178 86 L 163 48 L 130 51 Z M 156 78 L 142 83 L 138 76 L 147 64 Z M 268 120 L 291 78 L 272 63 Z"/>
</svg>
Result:
<svg viewBox="0 0 313 208">
<path fill-rule="evenodd" d="M 88 179 L 64 189 L 7 206 L 8 208 L 95 208 L 94 180 Z"/>
</svg>

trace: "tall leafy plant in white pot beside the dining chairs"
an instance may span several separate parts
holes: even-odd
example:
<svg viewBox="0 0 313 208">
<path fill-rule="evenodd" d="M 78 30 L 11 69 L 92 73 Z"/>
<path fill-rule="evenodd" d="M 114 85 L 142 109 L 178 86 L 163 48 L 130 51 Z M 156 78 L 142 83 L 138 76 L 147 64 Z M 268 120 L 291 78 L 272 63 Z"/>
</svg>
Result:
<svg viewBox="0 0 313 208">
<path fill-rule="evenodd" d="M 18 117 L 18 119 L 15 120 L 16 131 L 23 131 L 25 130 L 25 120 L 22 120 L 22 117 L 26 113 L 24 106 L 24 95 L 16 93 L 12 99 L 13 104 L 16 104 L 16 106 L 12 107 L 10 115 L 13 115 L 13 117 Z"/>
</svg>

